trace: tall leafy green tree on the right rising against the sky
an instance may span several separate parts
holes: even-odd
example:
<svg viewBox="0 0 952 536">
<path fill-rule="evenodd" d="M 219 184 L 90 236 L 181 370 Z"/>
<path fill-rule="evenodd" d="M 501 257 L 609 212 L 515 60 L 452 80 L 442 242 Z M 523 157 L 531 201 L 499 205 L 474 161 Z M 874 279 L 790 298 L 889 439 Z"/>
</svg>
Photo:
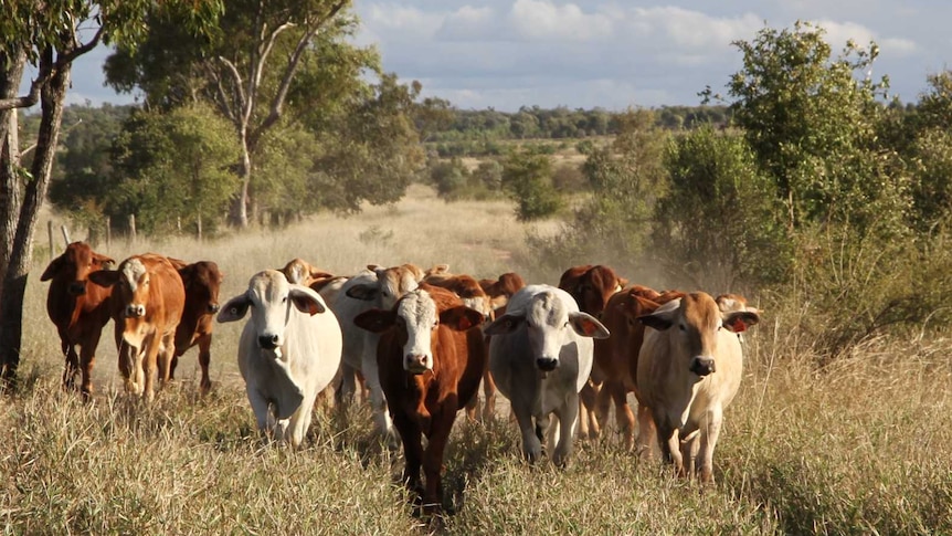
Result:
<svg viewBox="0 0 952 536">
<path fill-rule="evenodd" d="M 789 225 L 848 222 L 860 233 L 901 233 L 908 185 L 890 172 L 895 154 L 876 136 L 884 111 L 877 97 L 888 80 L 864 76 L 879 48 L 850 41 L 831 59 L 824 34 L 797 22 L 792 31 L 764 29 L 752 42 L 736 42 L 743 69 L 728 85 L 733 119 L 776 182 Z"/>
</svg>

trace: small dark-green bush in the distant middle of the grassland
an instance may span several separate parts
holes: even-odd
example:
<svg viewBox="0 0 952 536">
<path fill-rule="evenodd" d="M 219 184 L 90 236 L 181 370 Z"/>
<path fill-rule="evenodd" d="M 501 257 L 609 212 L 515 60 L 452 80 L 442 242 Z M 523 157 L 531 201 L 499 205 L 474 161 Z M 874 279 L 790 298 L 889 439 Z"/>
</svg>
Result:
<svg viewBox="0 0 952 536">
<path fill-rule="evenodd" d="M 548 218 L 564 207 L 552 186 L 552 164 L 547 155 L 514 151 L 503 164 L 503 189 L 516 201 L 519 221 Z"/>
</svg>

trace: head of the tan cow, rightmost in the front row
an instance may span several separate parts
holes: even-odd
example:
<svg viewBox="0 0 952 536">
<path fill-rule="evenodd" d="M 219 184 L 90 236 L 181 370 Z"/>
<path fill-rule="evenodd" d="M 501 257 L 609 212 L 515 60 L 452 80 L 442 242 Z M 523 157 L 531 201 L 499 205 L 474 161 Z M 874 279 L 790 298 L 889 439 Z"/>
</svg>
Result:
<svg viewBox="0 0 952 536">
<path fill-rule="evenodd" d="M 760 315 L 753 311 L 723 313 L 710 295 L 698 292 L 667 302 L 638 319 L 659 332 L 676 328 L 673 355 L 685 356 L 686 368 L 704 378 L 717 371 L 718 332 L 744 332 L 760 322 Z"/>
</svg>

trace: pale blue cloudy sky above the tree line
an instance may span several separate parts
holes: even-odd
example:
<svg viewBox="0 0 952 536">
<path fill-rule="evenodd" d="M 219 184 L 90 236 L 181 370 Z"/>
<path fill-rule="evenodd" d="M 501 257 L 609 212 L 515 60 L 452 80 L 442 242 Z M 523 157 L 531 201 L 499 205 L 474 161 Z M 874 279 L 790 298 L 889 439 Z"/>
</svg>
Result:
<svg viewBox="0 0 952 536">
<path fill-rule="evenodd" d="M 950 69 L 952 2 L 944 0 L 355 0 L 356 41 L 383 69 L 461 109 L 660 107 L 726 93 L 742 55 L 731 43 L 797 20 L 826 30 L 836 55 L 848 39 L 880 55 L 871 75 L 918 101 L 927 77 Z M 73 67 L 71 103 L 127 104 L 103 86 L 99 48 Z"/>
</svg>

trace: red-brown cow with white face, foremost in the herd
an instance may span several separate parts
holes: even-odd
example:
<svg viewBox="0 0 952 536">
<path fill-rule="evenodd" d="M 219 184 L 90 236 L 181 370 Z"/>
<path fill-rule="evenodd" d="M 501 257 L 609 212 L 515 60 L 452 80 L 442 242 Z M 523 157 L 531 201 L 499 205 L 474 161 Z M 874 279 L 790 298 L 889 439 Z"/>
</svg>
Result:
<svg viewBox="0 0 952 536">
<path fill-rule="evenodd" d="M 381 334 L 378 369 L 393 424 L 403 442 L 403 481 L 420 491 L 420 467 L 426 476 L 425 511 L 443 502 L 443 452 L 456 413 L 476 395 L 486 349 L 483 314 L 463 305 L 453 293 L 422 283 L 389 309 L 370 309 L 355 318 Z M 421 443 L 426 435 L 426 450 Z"/>
</svg>

